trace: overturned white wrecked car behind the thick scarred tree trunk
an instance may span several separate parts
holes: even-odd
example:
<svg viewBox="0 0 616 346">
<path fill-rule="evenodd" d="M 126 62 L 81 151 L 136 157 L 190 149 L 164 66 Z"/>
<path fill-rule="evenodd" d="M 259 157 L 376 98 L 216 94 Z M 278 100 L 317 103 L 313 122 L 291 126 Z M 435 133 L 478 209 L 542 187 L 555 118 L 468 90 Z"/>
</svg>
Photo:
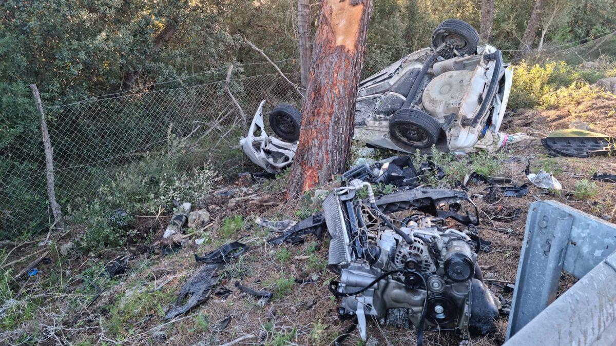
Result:
<svg viewBox="0 0 616 346">
<path fill-rule="evenodd" d="M 471 25 L 445 20 L 432 33 L 432 47 L 360 82 L 354 139 L 407 153 L 432 145 L 457 153 L 503 145 L 506 135 L 499 129 L 513 68 L 503 63 L 500 50 L 478 44 L 479 35 Z M 240 142 L 254 163 L 269 172 L 280 171 L 281 164 L 288 166 L 293 160 L 289 151 L 296 148 L 301 113 L 291 105 L 270 112 L 272 130 L 288 141 L 282 142 L 264 138 L 264 131 L 260 136 L 253 132 L 259 127 L 255 121 L 261 121 L 262 129 L 261 112 L 259 107 L 251 131 Z"/>
</svg>

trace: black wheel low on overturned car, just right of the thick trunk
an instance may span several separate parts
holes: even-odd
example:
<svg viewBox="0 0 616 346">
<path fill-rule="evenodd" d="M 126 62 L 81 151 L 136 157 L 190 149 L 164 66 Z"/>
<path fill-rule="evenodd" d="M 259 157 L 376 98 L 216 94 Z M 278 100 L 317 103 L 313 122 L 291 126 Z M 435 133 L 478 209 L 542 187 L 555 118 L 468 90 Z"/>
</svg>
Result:
<svg viewBox="0 0 616 346">
<path fill-rule="evenodd" d="M 439 135 L 439 122 L 420 110 L 397 110 L 389 119 L 389 136 L 396 145 L 428 148 L 437 142 Z"/>
</svg>

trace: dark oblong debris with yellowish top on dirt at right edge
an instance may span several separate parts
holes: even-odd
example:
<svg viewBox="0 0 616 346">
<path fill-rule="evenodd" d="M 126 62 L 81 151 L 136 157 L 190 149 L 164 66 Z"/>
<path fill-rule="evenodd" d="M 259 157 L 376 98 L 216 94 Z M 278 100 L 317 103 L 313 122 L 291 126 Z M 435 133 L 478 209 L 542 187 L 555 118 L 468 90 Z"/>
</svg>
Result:
<svg viewBox="0 0 616 346">
<path fill-rule="evenodd" d="M 616 138 L 577 129 L 557 130 L 541 139 L 548 153 L 556 156 L 588 158 L 616 154 Z"/>
</svg>

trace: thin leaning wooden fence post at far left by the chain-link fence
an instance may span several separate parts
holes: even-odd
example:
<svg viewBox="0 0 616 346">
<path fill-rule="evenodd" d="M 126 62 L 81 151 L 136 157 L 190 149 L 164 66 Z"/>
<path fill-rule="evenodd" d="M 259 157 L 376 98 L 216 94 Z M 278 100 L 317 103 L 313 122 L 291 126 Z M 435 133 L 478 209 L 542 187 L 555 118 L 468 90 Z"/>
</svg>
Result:
<svg viewBox="0 0 616 346">
<path fill-rule="evenodd" d="M 64 222 L 62 221 L 62 208 L 55 200 L 55 177 L 54 177 L 54 148 L 51 147 L 51 139 L 49 131 L 47 131 L 47 121 L 45 120 L 45 112 L 43 111 L 43 103 L 41 102 L 41 94 L 38 92 L 36 84 L 30 84 L 36 109 L 41 113 L 41 134 L 43 134 L 43 148 L 45 150 L 45 174 L 47 176 L 47 198 L 49 198 L 49 206 L 54 215 L 55 229 L 63 230 Z"/>
</svg>

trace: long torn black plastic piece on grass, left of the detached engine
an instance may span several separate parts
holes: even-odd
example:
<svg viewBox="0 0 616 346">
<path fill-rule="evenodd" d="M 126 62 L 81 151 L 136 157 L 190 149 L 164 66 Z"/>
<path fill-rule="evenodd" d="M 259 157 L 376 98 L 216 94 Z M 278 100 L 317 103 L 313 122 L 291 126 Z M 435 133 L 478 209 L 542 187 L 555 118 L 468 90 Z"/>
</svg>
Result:
<svg viewBox="0 0 616 346">
<path fill-rule="evenodd" d="M 182 289 L 180 289 L 176 304 L 164 318 L 171 320 L 171 318 L 205 302 L 212 288 L 218 283 L 218 276 L 216 274 L 221 267 L 221 264 L 208 264 L 201 267 L 193 276 L 190 276 L 184 286 L 182 286 Z M 185 300 L 187 297 L 188 299 Z M 183 302 L 185 303 L 182 304 Z"/>
</svg>

